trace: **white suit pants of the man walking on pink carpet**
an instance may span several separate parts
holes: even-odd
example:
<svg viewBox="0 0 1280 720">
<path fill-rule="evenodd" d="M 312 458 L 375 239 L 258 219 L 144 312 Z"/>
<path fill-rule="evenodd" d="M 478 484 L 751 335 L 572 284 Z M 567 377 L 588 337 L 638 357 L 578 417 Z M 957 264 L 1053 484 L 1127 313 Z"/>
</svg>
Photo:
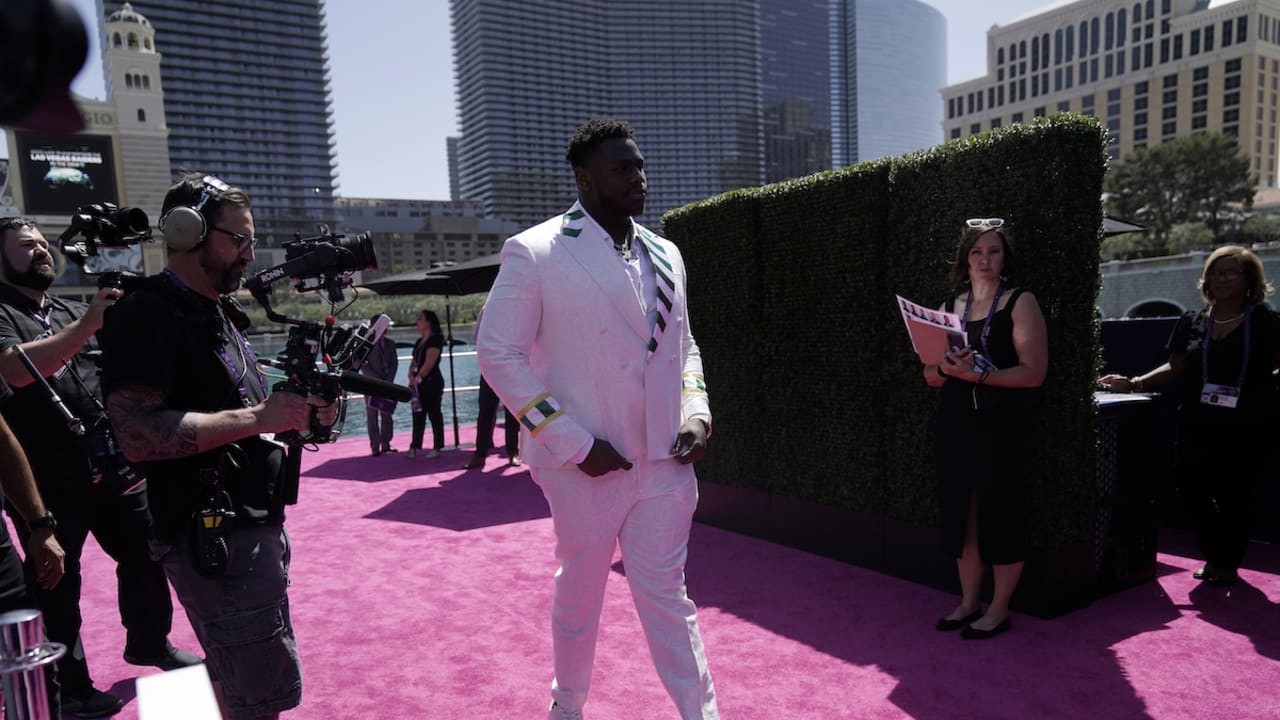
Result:
<svg viewBox="0 0 1280 720">
<path fill-rule="evenodd" d="M 644 626 L 658 676 L 682 720 L 716 720 L 716 689 L 685 591 L 689 527 L 698 503 L 694 469 L 673 460 L 636 460 L 599 478 L 573 469 L 532 470 L 556 528 L 552 643 L 561 707 L 586 702 L 595 638 L 614 547 Z"/>
</svg>

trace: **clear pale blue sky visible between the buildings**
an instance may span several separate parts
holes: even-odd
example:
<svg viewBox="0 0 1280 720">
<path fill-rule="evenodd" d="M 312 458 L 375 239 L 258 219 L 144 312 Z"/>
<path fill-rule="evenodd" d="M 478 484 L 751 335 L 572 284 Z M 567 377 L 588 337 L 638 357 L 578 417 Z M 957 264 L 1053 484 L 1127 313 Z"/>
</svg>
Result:
<svg viewBox="0 0 1280 720">
<path fill-rule="evenodd" d="M 73 1 L 86 18 L 96 13 L 95 0 Z M 948 83 L 986 73 L 987 29 L 992 24 L 1007 24 L 1055 4 L 924 1 L 947 18 Z M 133 5 L 146 14 L 147 0 L 134 0 Z M 448 0 L 328 0 L 325 15 L 339 195 L 447 200 L 444 138 L 457 133 Z M 96 42 L 95 36 L 90 61 L 74 88 L 101 99 L 102 67 Z"/>
</svg>

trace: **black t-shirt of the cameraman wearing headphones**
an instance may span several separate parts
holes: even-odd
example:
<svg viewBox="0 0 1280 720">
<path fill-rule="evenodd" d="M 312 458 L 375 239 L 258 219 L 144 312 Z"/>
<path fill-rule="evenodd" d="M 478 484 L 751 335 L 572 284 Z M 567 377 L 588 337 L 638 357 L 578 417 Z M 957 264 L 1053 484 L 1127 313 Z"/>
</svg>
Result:
<svg viewBox="0 0 1280 720">
<path fill-rule="evenodd" d="M 106 313 L 102 325 L 102 388 L 157 389 L 169 407 L 215 413 L 247 407 L 266 397 L 253 351 L 218 302 L 175 284 L 170 275 L 146 278 Z M 180 537 L 206 491 L 202 470 L 221 469 L 239 523 L 279 523 L 283 451 L 257 437 L 192 457 L 140 462 L 155 534 Z M 233 460 L 238 470 L 228 464 Z"/>
</svg>

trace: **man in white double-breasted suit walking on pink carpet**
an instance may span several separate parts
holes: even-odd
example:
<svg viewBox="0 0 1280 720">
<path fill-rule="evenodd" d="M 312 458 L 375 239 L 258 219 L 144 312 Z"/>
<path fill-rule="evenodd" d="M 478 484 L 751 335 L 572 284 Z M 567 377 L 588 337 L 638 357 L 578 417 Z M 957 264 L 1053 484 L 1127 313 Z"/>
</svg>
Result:
<svg viewBox="0 0 1280 720">
<path fill-rule="evenodd" d="M 680 716 L 718 719 L 685 591 L 692 462 L 712 420 L 684 260 L 631 219 L 646 186 L 628 124 L 588 122 L 567 159 L 579 201 L 506 242 L 476 342 L 481 374 L 518 409 L 556 528 L 549 719 L 582 717 L 616 547 Z"/>
</svg>

